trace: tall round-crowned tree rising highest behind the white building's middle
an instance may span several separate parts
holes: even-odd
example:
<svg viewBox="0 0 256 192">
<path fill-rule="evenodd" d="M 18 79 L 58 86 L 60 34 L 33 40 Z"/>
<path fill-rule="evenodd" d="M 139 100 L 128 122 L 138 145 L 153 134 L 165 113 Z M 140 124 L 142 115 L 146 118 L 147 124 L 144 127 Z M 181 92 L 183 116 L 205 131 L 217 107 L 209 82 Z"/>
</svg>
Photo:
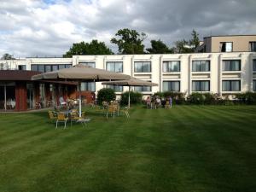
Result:
<svg viewBox="0 0 256 192">
<path fill-rule="evenodd" d="M 143 40 L 146 38 L 144 32 L 138 33 L 133 29 L 119 29 L 115 34 L 116 38 L 111 39 L 112 44 L 117 44 L 119 54 L 143 54 Z"/>
</svg>

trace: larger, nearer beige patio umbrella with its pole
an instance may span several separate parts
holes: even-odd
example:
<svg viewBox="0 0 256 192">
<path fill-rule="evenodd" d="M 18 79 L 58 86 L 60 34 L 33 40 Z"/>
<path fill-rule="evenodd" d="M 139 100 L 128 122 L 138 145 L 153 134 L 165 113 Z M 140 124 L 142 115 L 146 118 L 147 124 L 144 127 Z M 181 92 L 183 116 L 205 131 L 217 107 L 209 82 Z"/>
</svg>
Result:
<svg viewBox="0 0 256 192">
<path fill-rule="evenodd" d="M 124 80 L 131 79 L 130 75 L 122 73 L 108 72 L 103 69 L 84 67 L 83 65 L 76 65 L 71 68 L 63 68 L 58 71 L 41 73 L 32 76 L 32 80 L 51 79 L 51 80 L 64 80 L 64 81 L 78 81 L 79 82 L 79 116 L 82 113 L 81 103 L 81 82 L 99 82 L 105 80 Z"/>
</svg>

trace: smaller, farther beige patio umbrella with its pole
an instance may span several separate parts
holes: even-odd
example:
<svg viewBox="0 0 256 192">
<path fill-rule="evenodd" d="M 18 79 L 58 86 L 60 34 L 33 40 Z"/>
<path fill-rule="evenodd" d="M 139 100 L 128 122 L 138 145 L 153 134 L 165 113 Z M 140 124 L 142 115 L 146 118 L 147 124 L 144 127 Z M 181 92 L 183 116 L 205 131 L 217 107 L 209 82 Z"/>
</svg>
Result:
<svg viewBox="0 0 256 192">
<path fill-rule="evenodd" d="M 102 82 L 102 84 L 129 86 L 128 108 L 130 108 L 130 90 L 131 90 L 131 86 L 158 86 L 158 84 L 154 84 L 154 83 L 144 81 L 144 80 L 141 80 L 141 79 L 136 79 L 136 78 L 119 80 L 119 81 Z"/>
</svg>

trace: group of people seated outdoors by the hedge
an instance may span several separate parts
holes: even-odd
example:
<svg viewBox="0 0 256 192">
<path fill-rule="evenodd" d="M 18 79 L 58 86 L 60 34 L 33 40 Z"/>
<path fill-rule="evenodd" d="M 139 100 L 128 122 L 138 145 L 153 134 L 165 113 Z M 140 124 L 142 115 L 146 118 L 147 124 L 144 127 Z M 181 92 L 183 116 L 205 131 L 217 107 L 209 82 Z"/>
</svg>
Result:
<svg viewBox="0 0 256 192">
<path fill-rule="evenodd" d="M 167 96 L 166 98 L 160 96 L 150 96 L 146 99 L 147 108 L 172 108 L 172 97 Z"/>
</svg>

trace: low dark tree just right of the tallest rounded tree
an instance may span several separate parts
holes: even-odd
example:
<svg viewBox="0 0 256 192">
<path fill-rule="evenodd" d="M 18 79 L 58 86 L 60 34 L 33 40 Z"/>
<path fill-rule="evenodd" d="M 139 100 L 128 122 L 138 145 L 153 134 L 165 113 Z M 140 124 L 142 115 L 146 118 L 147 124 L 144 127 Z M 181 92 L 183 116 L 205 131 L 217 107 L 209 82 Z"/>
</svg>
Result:
<svg viewBox="0 0 256 192">
<path fill-rule="evenodd" d="M 173 49 L 168 48 L 160 39 L 151 40 L 151 48 L 146 49 L 150 54 L 168 54 L 173 53 Z"/>
</svg>

